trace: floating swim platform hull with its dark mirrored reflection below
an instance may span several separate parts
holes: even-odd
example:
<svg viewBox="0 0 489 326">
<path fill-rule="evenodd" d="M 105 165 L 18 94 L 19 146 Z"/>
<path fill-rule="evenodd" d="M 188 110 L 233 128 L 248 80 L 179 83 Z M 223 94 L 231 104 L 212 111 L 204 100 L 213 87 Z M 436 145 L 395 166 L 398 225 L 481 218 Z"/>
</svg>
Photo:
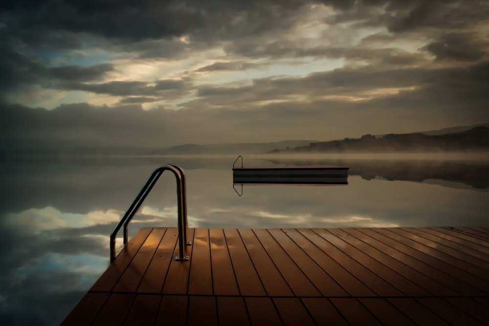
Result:
<svg viewBox="0 0 489 326">
<path fill-rule="evenodd" d="M 348 184 L 348 169 L 333 166 L 233 167 L 233 183 Z"/>
</svg>

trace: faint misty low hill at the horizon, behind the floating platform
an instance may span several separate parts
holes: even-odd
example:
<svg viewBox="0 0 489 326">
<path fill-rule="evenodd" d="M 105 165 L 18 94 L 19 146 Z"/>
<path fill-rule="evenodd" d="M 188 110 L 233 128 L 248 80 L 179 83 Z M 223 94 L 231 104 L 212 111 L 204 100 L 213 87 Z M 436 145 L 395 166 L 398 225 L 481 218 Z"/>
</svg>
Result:
<svg viewBox="0 0 489 326">
<path fill-rule="evenodd" d="M 151 150 L 148 155 L 211 155 L 211 154 L 255 154 L 269 152 L 277 148 L 295 148 L 317 142 L 317 140 L 283 140 L 268 143 L 236 144 L 184 144 L 169 148 Z"/>
</svg>

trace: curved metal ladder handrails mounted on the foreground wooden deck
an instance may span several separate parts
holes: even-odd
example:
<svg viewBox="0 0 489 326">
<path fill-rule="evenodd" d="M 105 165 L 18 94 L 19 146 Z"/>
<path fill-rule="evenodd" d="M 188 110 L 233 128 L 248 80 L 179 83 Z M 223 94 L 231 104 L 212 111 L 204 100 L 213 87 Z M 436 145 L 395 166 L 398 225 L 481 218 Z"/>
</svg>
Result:
<svg viewBox="0 0 489 326">
<path fill-rule="evenodd" d="M 133 200 L 131 206 L 129 206 L 128 210 L 124 214 L 124 216 L 120 219 L 119 223 L 114 227 L 111 233 L 110 247 L 111 247 L 111 262 L 115 260 L 115 237 L 117 232 L 119 232 L 122 225 L 124 225 L 123 233 L 124 233 L 124 247 L 128 244 L 128 224 L 133 218 L 136 211 L 139 209 L 139 206 L 143 203 L 146 196 L 148 196 L 153 186 L 156 184 L 158 178 L 163 174 L 164 171 L 171 171 L 176 179 L 177 179 L 177 201 L 178 201 L 178 241 L 179 241 L 179 256 L 176 257 L 178 261 L 188 261 L 189 258 L 185 254 L 186 245 L 189 245 L 190 242 L 187 242 L 187 204 L 186 204 L 186 184 L 185 184 L 185 174 L 183 170 L 176 165 L 165 165 L 157 168 L 148 181 L 144 184 L 143 188 Z"/>
</svg>

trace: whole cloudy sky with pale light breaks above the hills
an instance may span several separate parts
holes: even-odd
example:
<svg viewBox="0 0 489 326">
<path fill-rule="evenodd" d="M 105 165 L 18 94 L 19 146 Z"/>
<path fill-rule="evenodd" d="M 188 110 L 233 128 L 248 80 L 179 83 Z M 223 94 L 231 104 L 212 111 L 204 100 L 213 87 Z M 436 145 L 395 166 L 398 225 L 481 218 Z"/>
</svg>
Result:
<svg viewBox="0 0 489 326">
<path fill-rule="evenodd" d="M 4 0 L 0 146 L 485 123 L 488 34 L 483 0 Z"/>
</svg>

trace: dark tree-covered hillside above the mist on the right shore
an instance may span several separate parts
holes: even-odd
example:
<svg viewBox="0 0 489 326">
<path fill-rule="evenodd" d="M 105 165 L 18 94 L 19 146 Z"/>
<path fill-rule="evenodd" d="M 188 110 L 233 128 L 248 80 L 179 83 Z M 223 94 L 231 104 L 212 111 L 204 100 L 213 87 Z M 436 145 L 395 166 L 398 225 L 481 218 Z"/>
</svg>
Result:
<svg viewBox="0 0 489 326">
<path fill-rule="evenodd" d="M 360 138 L 345 138 L 316 142 L 269 153 L 344 153 L 344 152 L 465 152 L 489 151 L 489 128 L 475 127 L 461 132 L 428 135 L 421 132 L 382 137 L 366 134 Z"/>
</svg>

